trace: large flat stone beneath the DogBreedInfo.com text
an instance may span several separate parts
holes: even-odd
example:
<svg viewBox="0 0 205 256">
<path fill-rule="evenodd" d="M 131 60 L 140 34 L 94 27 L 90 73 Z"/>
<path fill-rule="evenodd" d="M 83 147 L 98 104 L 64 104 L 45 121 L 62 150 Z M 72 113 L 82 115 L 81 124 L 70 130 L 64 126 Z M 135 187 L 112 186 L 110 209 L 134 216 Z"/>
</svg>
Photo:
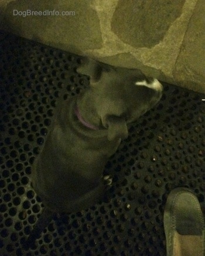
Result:
<svg viewBox="0 0 205 256">
<path fill-rule="evenodd" d="M 47 15 L 23 17 L 13 15 L 13 10 L 47 11 Z M 63 16 L 62 11 L 70 15 Z M 19 0 L 8 4 L 5 13 L 4 27 L 16 35 L 78 54 L 101 47 L 98 16 L 86 1 L 76 5 L 74 0 Z"/>
</svg>

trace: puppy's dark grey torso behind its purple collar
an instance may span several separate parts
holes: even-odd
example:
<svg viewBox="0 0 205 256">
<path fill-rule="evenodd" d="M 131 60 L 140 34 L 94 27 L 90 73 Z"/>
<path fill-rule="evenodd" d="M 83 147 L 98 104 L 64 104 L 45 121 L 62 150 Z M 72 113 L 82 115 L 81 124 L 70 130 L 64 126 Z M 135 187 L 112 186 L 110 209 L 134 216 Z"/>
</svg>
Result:
<svg viewBox="0 0 205 256">
<path fill-rule="evenodd" d="M 93 205 L 88 194 L 101 186 L 104 165 L 120 143 L 119 139 L 108 141 L 107 129 L 84 127 L 74 114 L 75 107 L 76 97 L 64 101 L 32 168 L 34 189 L 56 211 L 81 210 L 82 202 L 84 207 Z M 103 192 L 103 187 L 95 192 L 98 190 Z"/>
</svg>

